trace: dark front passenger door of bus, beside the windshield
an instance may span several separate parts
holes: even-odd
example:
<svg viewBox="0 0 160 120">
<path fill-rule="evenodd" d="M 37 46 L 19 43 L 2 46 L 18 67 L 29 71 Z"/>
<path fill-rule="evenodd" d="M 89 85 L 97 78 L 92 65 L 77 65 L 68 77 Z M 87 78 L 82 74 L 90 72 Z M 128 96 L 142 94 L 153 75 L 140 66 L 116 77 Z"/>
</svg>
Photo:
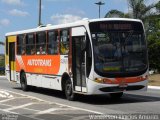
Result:
<svg viewBox="0 0 160 120">
<path fill-rule="evenodd" d="M 72 72 L 74 90 L 86 90 L 86 52 L 84 48 L 85 36 L 72 37 Z"/>
</svg>

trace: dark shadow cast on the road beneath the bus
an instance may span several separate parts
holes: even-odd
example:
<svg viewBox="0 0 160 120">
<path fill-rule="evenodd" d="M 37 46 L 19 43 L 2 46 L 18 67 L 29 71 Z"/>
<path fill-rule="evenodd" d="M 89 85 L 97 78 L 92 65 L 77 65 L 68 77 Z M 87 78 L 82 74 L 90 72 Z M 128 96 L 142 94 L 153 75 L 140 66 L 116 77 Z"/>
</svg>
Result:
<svg viewBox="0 0 160 120">
<path fill-rule="evenodd" d="M 21 90 L 21 88 L 19 87 L 14 87 L 14 89 Z M 53 96 L 64 100 L 66 99 L 63 92 L 51 89 L 31 87 L 29 89 L 29 92 Z M 111 99 L 108 95 L 76 95 L 76 102 L 94 105 L 128 104 L 156 101 L 160 101 L 160 97 L 149 96 L 149 94 L 147 94 L 146 92 L 144 92 L 144 95 L 125 93 L 121 99 Z"/>
</svg>

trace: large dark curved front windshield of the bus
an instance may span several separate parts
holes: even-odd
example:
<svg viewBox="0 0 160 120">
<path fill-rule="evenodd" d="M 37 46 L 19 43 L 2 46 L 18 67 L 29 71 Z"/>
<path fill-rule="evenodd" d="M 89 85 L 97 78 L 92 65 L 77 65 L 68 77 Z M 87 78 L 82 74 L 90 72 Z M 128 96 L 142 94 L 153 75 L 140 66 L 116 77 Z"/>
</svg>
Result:
<svg viewBox="0 0 160 120">
<path fill-rule="evenodd" d="M 142 24 L 97 22 L 91 23 L 90 29 L 97 73 L 103 76 L 128 76 L 141 74 L 140 71 L 147 69 L 147 50 Z"/>
</svg>

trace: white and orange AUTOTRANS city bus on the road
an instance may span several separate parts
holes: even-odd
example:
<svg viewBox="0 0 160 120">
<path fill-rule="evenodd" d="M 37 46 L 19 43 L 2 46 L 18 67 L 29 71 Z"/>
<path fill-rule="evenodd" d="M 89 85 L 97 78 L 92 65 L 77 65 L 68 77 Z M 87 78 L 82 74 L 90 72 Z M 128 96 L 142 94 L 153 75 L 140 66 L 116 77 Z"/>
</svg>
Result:
<svg viewBox="0 0 160 120">
<path fill-rule="evenodd" d="M 148 55 L 141 20 L 83 19 L 6 34 L 6 76 L 21 84 L 76 94 L 120 98 L 145 91 Z"/>
</svg>

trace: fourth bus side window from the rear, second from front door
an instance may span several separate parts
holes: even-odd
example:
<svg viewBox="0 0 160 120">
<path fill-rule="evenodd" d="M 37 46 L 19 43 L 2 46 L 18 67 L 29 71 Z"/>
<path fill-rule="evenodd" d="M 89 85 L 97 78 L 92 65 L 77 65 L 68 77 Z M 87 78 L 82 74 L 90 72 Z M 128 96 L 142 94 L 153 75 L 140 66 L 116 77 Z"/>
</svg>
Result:
<svg viewBox="0 0 160 120">
<path fill-rule="evenodd" d="M 48 32 L 48 51 L 49 55 L 58 54 L 58 31 Z"/>
</svg>

